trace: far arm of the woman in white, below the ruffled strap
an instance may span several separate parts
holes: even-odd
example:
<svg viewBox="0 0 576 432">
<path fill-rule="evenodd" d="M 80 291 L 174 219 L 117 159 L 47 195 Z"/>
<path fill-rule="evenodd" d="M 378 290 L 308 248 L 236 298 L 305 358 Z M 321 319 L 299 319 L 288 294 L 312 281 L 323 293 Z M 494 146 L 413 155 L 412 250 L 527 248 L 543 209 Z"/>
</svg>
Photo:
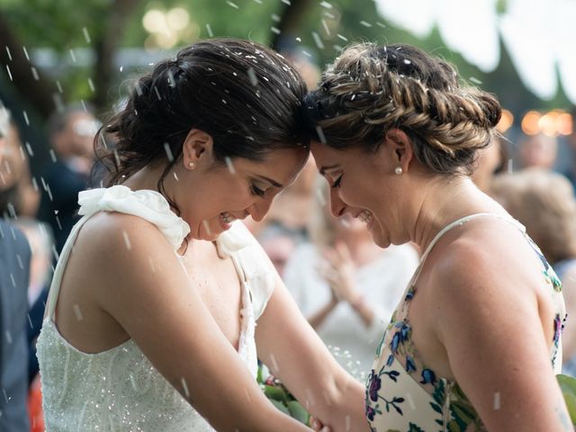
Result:
<svg viewBox="0 0 576 432">
<path fill-rule="evenodd" d="M 369 430 L 364 386 L 330 355 L 278 276 L 256 336 L 260 359 L 315 418 L 334 432 Z"/>
</svg>

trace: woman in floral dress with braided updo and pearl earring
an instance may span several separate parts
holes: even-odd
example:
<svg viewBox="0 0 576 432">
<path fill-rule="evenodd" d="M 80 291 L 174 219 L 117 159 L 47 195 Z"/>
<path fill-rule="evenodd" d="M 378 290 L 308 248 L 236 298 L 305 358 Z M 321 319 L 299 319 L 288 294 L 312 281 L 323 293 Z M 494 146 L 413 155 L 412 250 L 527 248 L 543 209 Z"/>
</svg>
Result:
<svg viewBox="0 0 576 432">
<path fill-rule="evenodd" d="M 360 44 L 306 104 L 332 212 L 364 220 L 381 247 L 423 251 L 368 379 L 371 430 L 572 430 L 554 378 L 561 284 L 470 179 L 496 98 L 419 49 Z"/>
</svg>

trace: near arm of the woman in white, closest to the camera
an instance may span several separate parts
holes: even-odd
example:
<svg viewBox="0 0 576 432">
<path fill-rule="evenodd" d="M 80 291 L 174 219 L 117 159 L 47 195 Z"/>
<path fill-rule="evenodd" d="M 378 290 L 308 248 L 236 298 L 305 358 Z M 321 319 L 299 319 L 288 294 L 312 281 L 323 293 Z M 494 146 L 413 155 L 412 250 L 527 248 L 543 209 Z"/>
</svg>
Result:
<svg viewBox="0 0 576 432">
<path fill-rule="evenodd" d="M 219 431 L 306 431 L 270 403 L 204 306 L 166 238 L 127 215 L 83 228 L 76 244 L 97 302 Z M 126 241 L 126 238 L 128 241 Z M 88 270 L 90 269 L 90 270 Z"/>
</svg>

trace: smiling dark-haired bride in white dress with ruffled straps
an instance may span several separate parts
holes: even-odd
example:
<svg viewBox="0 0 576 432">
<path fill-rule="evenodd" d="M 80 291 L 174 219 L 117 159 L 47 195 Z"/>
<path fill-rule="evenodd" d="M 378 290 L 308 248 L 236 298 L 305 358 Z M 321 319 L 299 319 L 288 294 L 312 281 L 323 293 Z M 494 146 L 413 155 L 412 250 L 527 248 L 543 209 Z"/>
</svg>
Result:
<svg viewBox="0 0 576 432">
<path fill-rule="evenodd" d="M 139 79 L 103 128 L 111 187 L 80 193 L 50 289 L 47 432 L 310 430 L 266 399 L 257 357 L 332 430 L 366 428 L 362 384 L 235 221 L 264 218 L 305 163 L 304 94 L 242 40 L 193 44 Z"/>
</svg>

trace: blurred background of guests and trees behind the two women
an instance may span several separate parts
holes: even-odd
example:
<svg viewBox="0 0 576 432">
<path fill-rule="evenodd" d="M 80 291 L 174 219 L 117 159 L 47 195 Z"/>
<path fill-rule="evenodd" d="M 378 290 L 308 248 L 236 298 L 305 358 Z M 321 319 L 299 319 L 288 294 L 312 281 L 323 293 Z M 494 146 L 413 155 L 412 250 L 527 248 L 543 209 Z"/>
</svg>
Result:
<svg viewBox="0 0 576 432">
<path fill-rule="evenodd" d="M 179 47 L 215 36 L 274 47 L 311 88 L 351 41 L 407 42 L 497 94 L 505 108 L 501 137 L 479 155 L 473 180 L 526 226 L 562 279 L 569 316 L 563 372 L 576 375 L 576 4 L 478 0 L 460 10 L 456 3 L 0 3 L 0 430 L 43 430 L 34 341 L 52 269 L 76 221 L 77 193 L 90 186 L 96 130 L 121 106 L 131 78 Z M 312 327 L 363 380 L 419 250 L 374 246 L 364 223 L 336 220 L 327 201 L 327 184 L 310 160 L 266 220 L 245 223 Z M 16 406 L 20 394 L 25 410 Z"/>
</svg>

